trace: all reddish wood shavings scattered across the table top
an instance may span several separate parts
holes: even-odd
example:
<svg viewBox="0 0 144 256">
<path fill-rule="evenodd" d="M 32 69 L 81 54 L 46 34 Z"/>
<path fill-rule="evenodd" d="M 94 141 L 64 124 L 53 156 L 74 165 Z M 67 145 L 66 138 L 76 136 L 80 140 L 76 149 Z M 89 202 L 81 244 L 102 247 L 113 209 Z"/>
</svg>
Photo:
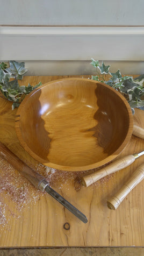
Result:
<svg viewBox="0 0 144 256">
<path fill-rule="evenodd" d="M 72 186 L 76 191 L 79 191 L 82 187 L 81 179 L 83 176 L 88 175 L 93 170 L 86 170 L 82 172 L 64 172 L 49 168 L 47 166 L 38 163 L 38 165 L 30 165 L 32 169 L 45 177 L 49 186 L 56 189 L 62 189 L 63 185 Z M 102 180 L 95 182 L 91 186 L 99 186 L 111 179 L 112 175 L 104 177 Z M 40 197 L 43 196 L 40 190 L 35 189 L 34 186 L 15 168 L 13 168 L 8 162 L 0 158 L 0 226 L 5 227 L 8 225 L 10 217 L 21 218 L 20 211 L 24 207 L 30 208 L 31 204 L 35 204 Z M 12 201 L 17 209 L 16 212 L 9 209 L 9 203 L 5 200 Z M 9 214 L 8 214 L 9 213 Z M 9 217 L 8 217 L 9 216 Z"/>
</svg>

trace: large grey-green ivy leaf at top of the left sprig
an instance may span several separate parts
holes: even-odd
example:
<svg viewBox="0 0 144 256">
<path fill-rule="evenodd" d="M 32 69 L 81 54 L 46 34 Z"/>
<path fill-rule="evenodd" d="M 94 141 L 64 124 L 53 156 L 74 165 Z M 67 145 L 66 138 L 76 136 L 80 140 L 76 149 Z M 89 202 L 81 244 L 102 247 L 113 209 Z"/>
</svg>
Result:
<svg viewBox="0 0 144 256">
<path fill-rule="evenodd" d="M 6 68 L 6 71 L 11 74 L 11 77 L 21 80 L 27 69 L 24 62 L 10 61 L 10 67 Z"/>
</svg>

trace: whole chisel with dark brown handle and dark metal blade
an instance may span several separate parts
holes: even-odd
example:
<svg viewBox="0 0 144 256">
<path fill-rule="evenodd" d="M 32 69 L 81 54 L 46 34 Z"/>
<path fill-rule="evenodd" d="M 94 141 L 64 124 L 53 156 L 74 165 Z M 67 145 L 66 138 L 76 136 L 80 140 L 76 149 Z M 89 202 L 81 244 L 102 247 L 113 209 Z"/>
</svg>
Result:
<svg viewBox="0 0 144 256">
<path fill-rule="evenodd" d="M 53 196 L 59 203 L 61 203 L 64 207 L 66 207 L 69 211 L 72 212 L 77 218 L 79 218 L 82 222 L 87 223 L 87 217 L 82 214 L 77 208 L 75 208 L 72 204 L 70 204 L 66 199 L 64 199 L 61 195 L 59 195 L 55 190 L 49 187 L 48 182 L 45 180 L 45 177 L 41 176 L 39 173 L 35 172 L 32 168 L 26 165 L 23 161 L 21 161 L 17 155 L 12 153 L 9 148 L 4 146 L 0 142 L 0 157 L 4 160 L 8 161 L 10 165 L 18 170 L 19 173 L 23 174 L 33 185 L 35 188 L 40 189 L 42 191 L 46 191 L 49 195 Z"/>
</svg>

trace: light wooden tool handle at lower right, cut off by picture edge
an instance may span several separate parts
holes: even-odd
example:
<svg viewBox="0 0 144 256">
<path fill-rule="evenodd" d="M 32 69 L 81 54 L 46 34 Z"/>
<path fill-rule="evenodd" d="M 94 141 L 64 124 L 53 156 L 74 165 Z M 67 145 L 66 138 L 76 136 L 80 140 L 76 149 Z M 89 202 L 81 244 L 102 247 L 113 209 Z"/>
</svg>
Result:
<svg viewBox="0 0 144 256">
<path fill-rule="evenodd" d="M 125 185 L 118 191 L 118 193 L 113 196 L 109 201 L 107 201 L 107 207 L 111 210 L 116 210 L 120 203 L 124 200 L 127 194 L 144 178 L 144 163 L 136 169 L 136 171 L 131 176 L 131 179 L 125 183 Z"/>
</svg>

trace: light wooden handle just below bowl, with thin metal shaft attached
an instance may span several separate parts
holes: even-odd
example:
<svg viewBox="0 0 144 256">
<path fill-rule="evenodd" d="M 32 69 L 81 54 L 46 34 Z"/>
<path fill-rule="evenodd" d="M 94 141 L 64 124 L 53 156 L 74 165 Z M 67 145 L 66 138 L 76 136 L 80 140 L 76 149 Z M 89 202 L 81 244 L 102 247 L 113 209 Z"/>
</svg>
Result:
<svg viewBox="0 0 144 256">
<path fill-rule="evenodd" d="M 92 173 L 90 175 L 84 176 L 82 178 L 82 183 L 85 187 L 90 186 L 92 183 L 102 179 L 103 177 L 115 173 L 118 170 L 124 169 L 127 166 L 131 165 L 134 162 L 135 158 L 133 155 L 127 155 L 124 158 L 118 159 L 110 165 L 98 170 L 95 173 Z"/>
</svg>

